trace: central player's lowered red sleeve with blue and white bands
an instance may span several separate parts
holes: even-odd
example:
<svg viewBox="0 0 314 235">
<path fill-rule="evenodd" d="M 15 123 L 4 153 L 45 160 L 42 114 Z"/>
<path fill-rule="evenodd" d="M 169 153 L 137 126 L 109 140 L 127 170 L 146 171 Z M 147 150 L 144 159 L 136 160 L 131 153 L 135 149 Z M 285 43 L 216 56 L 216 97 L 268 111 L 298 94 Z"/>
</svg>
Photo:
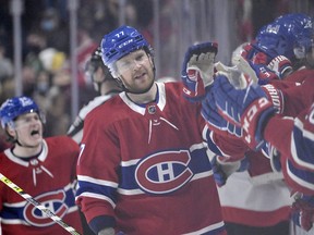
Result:
<svg viewBox="0 0 314 235">
<path fill-rule="evenodd" d="M 114 226 L 113 208 L 120 162 L 114 127 L 108 127 L 104 124 L 104 119 L 90 114 L 85 120 L 77 161 L 76 202 L 89 225 L 93 221 L 93 225 L 97 226 L 93 227 L 95 232 L 106 226 Z"/>
</svg>

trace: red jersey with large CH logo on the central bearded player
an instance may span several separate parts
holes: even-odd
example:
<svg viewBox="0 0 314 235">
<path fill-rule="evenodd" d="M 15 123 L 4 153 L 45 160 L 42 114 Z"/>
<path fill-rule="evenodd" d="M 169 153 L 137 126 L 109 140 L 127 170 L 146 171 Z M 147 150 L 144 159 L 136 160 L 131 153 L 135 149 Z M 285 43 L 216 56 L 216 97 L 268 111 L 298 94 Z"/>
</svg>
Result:
<svg viewBox="0 0 314 235">
<path fill-rule="evenodd" d="M 128 235 L 226 234 L 201 107 L 180 83 L 156 84 L 154 102 L 122 92 L 87 115 L 76 201 L 89 224 L 111 217 Z"/>
</svg>

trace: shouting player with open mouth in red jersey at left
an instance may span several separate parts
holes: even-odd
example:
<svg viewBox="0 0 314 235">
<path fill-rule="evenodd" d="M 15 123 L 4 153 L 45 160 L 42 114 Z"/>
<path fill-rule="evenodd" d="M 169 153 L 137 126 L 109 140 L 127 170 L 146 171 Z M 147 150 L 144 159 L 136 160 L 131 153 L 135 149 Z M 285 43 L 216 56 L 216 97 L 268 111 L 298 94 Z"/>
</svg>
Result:
<svg viewBox="0 0 314 235">
<path fill-rule="evenodd" d="M 74 199 L 77 144 L 67 136 L 44 139 L 44 115 L 25 96 L 3 102 L 0 119 L 12 143 L 0 153 L 0 172 L 81 232 Z M 0 221 L 2 235 L 69 234 L 4 184 L 0 184 Z"/>
</svg>

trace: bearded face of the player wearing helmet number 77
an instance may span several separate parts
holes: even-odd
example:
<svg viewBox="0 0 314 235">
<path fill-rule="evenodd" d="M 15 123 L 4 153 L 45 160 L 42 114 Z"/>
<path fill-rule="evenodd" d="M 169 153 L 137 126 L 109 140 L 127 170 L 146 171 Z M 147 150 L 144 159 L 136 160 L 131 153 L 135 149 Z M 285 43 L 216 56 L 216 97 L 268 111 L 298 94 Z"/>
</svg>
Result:
<svg viewBox="0 0 314 235">
<path fill-rule="evenodd" d="M 154 84 L 154 65 L 150 55 L 136 50 L 116 62 L 117 72 L 125 88 L 146 92 Z"/>
</svg>

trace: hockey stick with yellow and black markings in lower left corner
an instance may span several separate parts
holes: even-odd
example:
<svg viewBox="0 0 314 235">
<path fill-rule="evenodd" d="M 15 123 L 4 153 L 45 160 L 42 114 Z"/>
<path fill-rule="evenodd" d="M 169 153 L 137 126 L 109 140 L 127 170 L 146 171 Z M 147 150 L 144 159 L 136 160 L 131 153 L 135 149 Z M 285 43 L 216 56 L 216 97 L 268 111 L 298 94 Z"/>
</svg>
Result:
<svg viewBox="0 0 314 235">
<path fill-rule="evenodd" d="M 3 174 L 0 173 L 0 181 L 3 182 L 7 186 L 12 188 L 16 194 L 22 196 L 25 200 L 34 205 L 37 209 L 43 211 L 48 218 L 57 222 L 60 226 L 62 226 L 64 230 L 67 230 L 69 233 L 74 235 L 80 235 L 78 232 L 74 230 L 74 227 L 68 225 L 62 221 L 61 218 L 56 215 L 52 211 L 50 211 L 48 208 L 43 206 L 40 202 L 38 202 L 35 198 L 33 198 L 31 195 L 26 194 L 21 187 L 15 185 L 13 182 L 11 182 L 8 177 L 5 177 Z"/>
</svg>

